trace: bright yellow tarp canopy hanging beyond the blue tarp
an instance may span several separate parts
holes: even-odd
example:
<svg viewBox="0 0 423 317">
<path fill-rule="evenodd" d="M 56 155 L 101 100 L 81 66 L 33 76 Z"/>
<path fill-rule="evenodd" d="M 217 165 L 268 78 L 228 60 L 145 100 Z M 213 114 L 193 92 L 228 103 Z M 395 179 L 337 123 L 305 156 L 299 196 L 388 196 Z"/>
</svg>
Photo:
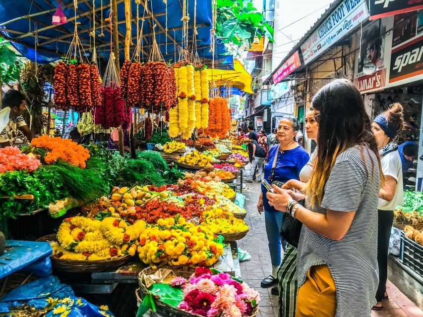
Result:
<svg viewBox="0 0 423 317">
<path fill-rule="evenodd" d="M 217 87 L 235 87 L 246 93 L 253 94 L 251 89 L 252 77 L 238 59 L 234 61 L 234 70 L 209 68 L 208 75 L 209 81 L 214 81 Z"/>
</svg>

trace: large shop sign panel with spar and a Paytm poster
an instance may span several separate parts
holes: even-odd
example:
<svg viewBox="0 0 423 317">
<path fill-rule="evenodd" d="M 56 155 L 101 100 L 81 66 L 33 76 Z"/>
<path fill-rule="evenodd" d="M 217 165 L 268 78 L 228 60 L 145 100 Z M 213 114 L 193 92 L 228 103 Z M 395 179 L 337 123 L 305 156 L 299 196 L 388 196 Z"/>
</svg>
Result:
<svg viewBox="0 0 423 317">
<path fill-rule="evenodd" d="M 392 30 L 387 32 L 388 30 Z M 354 84 L 362 93 L 408 84 L 423 75 L 423 10 L 383 18 L 358 42 Z M 375 72 L 369 74 L 375 66 Z"/>
</svg>

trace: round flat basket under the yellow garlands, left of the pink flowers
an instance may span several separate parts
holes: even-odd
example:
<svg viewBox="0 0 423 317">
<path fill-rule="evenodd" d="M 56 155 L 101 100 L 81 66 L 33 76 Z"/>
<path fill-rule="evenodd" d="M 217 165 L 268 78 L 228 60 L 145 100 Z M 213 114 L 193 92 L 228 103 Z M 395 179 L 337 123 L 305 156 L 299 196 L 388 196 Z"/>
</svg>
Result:
<svg viewBox="0 0 423 317">
<path fill-rule="evenodd" d="M 47 236 L 37 239 L 37 241 L 56 241 L 56 234 L 49 234 Z M 130 262 L 131 259 L 132 257 L 130 255 L 125 255 L 119 258 L 96 261 L 60 260 L 58 258 L 50 257 L 50 260 L 52 261 L 52 266 L 58 271 L 63 272 L 103 272 L 111 269 L 116 269 Z"/>
</svg>

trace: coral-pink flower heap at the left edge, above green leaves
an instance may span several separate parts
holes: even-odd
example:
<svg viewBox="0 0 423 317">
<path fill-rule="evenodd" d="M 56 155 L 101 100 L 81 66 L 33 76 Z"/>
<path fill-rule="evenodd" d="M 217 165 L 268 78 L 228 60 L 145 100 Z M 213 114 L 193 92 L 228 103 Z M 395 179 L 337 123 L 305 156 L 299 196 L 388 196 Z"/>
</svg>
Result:
<svg viewBox="0 0 423 317">
<path fill-rule="evenodd" d="M 32 155 L 26 155 L 16 147 L 0 149 L 0 173 L 14 170 L 27 170 L 31 172 L 37 169 L 41 162 Z"/>
</svg>

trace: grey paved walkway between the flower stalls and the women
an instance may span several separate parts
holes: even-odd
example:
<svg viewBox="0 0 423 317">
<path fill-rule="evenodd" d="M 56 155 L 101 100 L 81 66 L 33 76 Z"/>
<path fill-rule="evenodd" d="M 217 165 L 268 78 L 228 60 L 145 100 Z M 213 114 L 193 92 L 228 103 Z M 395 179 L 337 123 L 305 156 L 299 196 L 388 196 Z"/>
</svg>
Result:
<svg viewBox="0 0 423 317">
<path fill-rule="evenodd" d="M 245 238 L 238 241 L 238 246 L 251 255 L 251 260 L 241 262 L 242 279 L 260 293 L 261 316 L 278 317 L 278 297 L 270 293 L 270 288 L 261 288 L 261 280 L 268 276 L 272 270 L 270 254 L 267 245 L 266 228 L 264 225 L 264 214 L 259 214 L 256 208 L 260 185 L 257 181 L 244 183 L 245 188 L 242 194 L 246 196 L 245 210 L 247 215 L 245 221 L 250 230 Z M 403 293 L 388 281 L 389 301 L 384 301 L 384 309 L 379 312 L 372 312 L 372 317 L 423 317 L 418 309 Z"/>
</svg>

